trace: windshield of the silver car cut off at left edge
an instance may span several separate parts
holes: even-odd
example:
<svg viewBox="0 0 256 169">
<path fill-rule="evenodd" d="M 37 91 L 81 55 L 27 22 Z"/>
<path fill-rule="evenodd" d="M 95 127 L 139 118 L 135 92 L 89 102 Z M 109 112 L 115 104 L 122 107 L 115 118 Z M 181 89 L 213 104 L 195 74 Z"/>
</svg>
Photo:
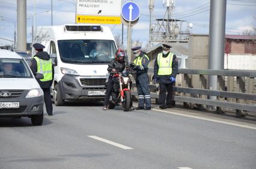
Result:
<svg viewBox="0 0 256 169">
<path fill-rule="evenodd" d="M 23 59 L 0 59 L 0 78 L 32 78 Z"/>
</svg>

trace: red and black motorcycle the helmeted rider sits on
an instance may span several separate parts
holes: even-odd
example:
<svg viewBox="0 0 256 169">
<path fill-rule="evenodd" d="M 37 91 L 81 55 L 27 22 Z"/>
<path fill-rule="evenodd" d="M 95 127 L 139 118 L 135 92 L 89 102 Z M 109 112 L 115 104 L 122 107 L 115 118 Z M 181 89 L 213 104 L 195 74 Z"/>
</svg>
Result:
<svg viewBox="0 0 256 169">
<path fill-rule="evenodd" d="M 132 94 L 130 88 L 131 77 L 129 71 L 124 70 L 122 73 L 112 72 L 108 75 L 112 76 L 114 86 L 111 93 L 111 98 L 109 99 L 109 108 L 115 108 L 118 102 L 121 101 L 123 111 L 128 111 L 132 105 Z M 106 80 L 108 82 L 108 80 Z"/>
</svg>

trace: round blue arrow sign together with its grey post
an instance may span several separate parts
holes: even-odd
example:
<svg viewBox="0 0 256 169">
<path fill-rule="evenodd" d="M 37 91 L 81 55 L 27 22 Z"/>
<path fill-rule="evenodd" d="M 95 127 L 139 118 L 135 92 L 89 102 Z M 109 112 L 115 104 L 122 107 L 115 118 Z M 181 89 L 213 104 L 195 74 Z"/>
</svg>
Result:
<svg viewBox="0 0 256 169">
<path fill-rule="evenodd" d="M 123 5 L 121 11 L 123 22 L 127 25 L 127 55 L 128 61 L 131 60 L 131 39 L 132 39 L 132 25 L 135 25 L 136 22 L 139 20 L 139 6 L 135 2 L 126 2 Z"/>
</svg>

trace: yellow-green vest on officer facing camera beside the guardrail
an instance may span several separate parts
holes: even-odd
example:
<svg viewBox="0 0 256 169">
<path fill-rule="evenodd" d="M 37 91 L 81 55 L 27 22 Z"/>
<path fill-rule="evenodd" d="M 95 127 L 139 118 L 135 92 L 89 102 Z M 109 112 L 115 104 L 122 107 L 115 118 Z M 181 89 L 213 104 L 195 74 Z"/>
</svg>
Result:
<svg viewBox="0 0 256 169">
<path fill-rule="evenodd" d="M 159 53 L 157 56 L 157 64 L 158 64 L 158 75 L 170 75 L 172 74 L 172 59 L 173 53 L 169 53 L 166 58 L 163 58 L 163 54 Z"/>
</svg>

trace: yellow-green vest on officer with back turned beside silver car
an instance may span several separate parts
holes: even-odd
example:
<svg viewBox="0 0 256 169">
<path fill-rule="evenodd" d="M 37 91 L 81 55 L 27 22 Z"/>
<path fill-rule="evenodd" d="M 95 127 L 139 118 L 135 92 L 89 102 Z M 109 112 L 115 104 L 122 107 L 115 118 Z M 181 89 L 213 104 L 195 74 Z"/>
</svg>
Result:
<svg viewBox="0 0 256 169">
<path fill-rule="evenodd" d="M 52 59 L 43 60 L 34 56 L 37 61 L 37 72 L 43 74 L 44 79 L 40 79 L 41 82 L 52 80 Z"/>
</svg>

